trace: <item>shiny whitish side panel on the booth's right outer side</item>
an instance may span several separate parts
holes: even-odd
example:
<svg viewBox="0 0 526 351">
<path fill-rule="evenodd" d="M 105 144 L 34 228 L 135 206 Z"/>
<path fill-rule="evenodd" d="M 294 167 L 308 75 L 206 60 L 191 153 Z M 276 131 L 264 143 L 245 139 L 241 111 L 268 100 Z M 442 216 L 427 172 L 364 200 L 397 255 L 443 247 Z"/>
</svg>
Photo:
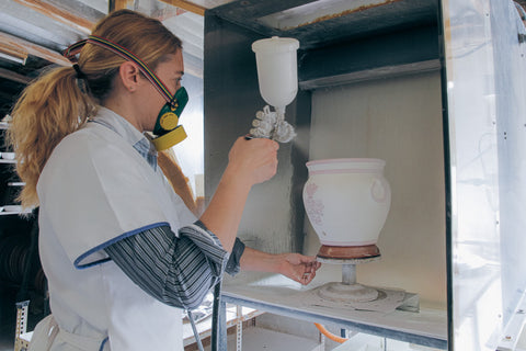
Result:
<svg viewBox="0 0 526 351">
<path fill-rule="evenodd" d="M 519 263 L 526 249 L 524 24 L 512 1 L 449 0 L 442 7 L 450 152 L 449 348 L 495 350 L 526 286 L 526 265 Z"/>
</svg>

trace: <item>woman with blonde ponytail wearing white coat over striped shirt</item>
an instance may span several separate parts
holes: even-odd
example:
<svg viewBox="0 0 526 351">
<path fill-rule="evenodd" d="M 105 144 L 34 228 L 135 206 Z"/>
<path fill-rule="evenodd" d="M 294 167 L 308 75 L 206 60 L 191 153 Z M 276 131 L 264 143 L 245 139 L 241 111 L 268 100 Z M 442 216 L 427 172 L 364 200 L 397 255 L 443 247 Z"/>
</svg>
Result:
<svg viewBox="0 0 526 351">
<path fill-rule="evenodd" d="M 10 140 L 26 183 L 20 199 L 39 206 L 53 312 L 32 348 L 183 350 L 182 308 L 198 306 L 225 271 L 312 280 L 315 258 L 267 254 L 236 239 L 251 186 L 276 172 L 275 141 L 236 140 L 199 219 L 157 166 L 144 132 L 156 129 L 181 89 L 179 38 L 122 10 L 75 47 L 78 64 L 27 87 L 12 113 Z"/>
</svg>

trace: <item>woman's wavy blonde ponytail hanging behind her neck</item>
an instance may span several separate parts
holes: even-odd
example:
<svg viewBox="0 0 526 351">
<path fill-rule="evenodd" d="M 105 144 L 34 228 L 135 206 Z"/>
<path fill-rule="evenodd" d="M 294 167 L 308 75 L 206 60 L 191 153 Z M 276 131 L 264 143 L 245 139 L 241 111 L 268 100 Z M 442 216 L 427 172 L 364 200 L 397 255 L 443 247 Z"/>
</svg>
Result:
<svg viewBox="0 0 526 351">
<path fill-rule="evenodd" d="M 36 183 L 52 151 L 94 111 L 95 104 L 79 89 L 72 67 L 53 69 L 23 91 L 8 131 L 8 143 L 16 155 L 16 172 L 25 182 L 18 197 L 23 207 L 38 205 Z"/>
</svg>

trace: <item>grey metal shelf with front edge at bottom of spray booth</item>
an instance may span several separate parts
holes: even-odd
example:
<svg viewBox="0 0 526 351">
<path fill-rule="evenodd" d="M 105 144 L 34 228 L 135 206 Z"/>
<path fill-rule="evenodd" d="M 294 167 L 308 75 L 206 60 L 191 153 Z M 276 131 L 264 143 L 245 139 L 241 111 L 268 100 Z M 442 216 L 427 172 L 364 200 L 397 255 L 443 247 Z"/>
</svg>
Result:
<svg viewBox="0 0 526 351">
<path fill-rule="evenodd" d="M 447 313 L 445 309 L 422 307 L 419 313 L 396 310 L 389 314 L 350 310 L 310 305 L 309 291 L 321 285 L 313 281 L 300 286 L 279 275 L 264 275 L 259 280 L 232 280 L 226 282 L 221 292 L 221 316 L 227 304 L 248 306 L 278 316 L 339 326 L 373 336 L 411 342 L 435 349 L 447 349 Z M 226 350 L 225 318 L 219 328 L 219 344 Z"/>
</svg>

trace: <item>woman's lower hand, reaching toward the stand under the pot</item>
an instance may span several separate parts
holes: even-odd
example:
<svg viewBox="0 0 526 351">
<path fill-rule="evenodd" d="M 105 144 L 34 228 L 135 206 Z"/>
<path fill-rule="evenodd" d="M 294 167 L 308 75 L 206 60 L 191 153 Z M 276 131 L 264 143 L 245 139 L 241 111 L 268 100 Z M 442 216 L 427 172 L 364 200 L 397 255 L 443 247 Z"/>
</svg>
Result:
<svg viewBox="0 0 526 351">
<path fill-rule="evenodd" d="M 316 256 L 304 256 L 300 253 L 277 254 L 279 273 L 304 285 L 309 284 L 316 276 L 316 271 L 321 263 Z"/>
</svg>

